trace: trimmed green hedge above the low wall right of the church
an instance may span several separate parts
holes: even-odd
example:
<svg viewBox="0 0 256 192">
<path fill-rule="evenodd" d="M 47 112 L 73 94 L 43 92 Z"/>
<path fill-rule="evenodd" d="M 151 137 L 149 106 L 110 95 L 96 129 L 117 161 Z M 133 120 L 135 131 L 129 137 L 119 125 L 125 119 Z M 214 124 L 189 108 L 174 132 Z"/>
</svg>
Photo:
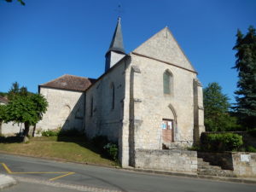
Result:
<svg viewBox="0 0 256 192">
<path fill-rule="evenodd" d="M 242 137 L 236 133 L 204 133 L 201 135 L 203 151 L 237 151 L 242 144 Z"/>
</svg>

